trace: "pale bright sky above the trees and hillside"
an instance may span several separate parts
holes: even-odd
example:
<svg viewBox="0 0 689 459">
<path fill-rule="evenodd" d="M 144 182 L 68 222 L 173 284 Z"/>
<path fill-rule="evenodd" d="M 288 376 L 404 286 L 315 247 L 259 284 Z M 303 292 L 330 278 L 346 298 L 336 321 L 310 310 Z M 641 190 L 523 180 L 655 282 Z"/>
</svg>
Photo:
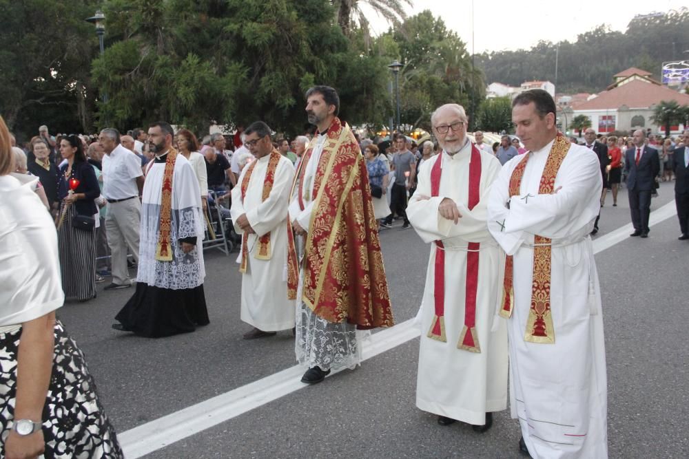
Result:
<svg viewBox="0 0 689 459">
<path fill-rule="evenodd" d="M 471 54 L 471 9 L 474 7 L 474 39 L 476 53 L 484 51 L 528 49 L 540 40 L 576 41 L 577 35 L 605 23 L 613 30 L 624 32 L 637 14 L 667 12 L 687 6 L 676 0 L 576 0 L 576 1 L 507 1 L 507 0 L 412 0 L 413 16 L 431 10 L 434 17 L 459 34 Z M 373 34 L 387 30 L 389 25 L 371 12 L 365 4 Z"/>
</svg>

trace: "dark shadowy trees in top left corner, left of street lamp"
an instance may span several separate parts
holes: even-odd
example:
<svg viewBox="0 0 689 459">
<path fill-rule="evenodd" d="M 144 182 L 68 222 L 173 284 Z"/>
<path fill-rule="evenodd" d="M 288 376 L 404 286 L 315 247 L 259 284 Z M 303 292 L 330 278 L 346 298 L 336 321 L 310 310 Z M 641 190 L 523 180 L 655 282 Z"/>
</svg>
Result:
<svg viewBox="0 0 689 459">
<path fill-rule="evenodd" d="M 90 131 L 89 65 L 98 52 L 92 0 L 0 0 L 0 113 L 24 140 Z"/>
</svg>

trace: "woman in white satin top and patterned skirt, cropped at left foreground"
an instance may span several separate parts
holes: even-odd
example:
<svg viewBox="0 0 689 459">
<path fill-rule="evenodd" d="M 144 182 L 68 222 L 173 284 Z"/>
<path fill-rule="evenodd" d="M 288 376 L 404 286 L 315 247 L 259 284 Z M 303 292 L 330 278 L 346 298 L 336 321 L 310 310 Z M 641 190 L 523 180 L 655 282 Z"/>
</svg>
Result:
<svg viewBox="0 0 689 459">
<path fill-rule="evenodd" d="M 3 457 L 121 458 L 83 353 L 55 310 L 62 291 L 57 235 L 33 191 L 10 173 L 0 117 L 0 435 Z"/>
</svg>

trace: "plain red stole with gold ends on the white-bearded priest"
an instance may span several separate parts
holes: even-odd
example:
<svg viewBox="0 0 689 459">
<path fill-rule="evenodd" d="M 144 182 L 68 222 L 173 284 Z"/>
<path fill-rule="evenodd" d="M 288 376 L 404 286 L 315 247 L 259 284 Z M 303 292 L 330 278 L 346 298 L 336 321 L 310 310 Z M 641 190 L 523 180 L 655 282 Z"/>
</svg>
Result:
<svg viewBox="0 0 689 459">
<path fill-rule="evenodd" d="M 442 154 L 431 169 L 431 196 L 440 193 L 440 178 L 442 175 Z M 469 202 L 467 207 L 471 211 L 481 198 L 481 153 L 475 145 L 471 145 L 471 160 L 469 162 Z M 435 262 L 433 281 L 433 300 L 435 303 L 435 317 L 431 323 L 428 337 L 446 342 L 445 337 L 445 248 L 442 241 L 435 241 Z M 471 352 L 481 352 L 476 332 L 476 290 L 478 287 L 478 261 L 480 244 L 469 242 L 466 248 L 466 290 L 464 291 L 464 328 L 460 335 L 457 348 Z"/>
</svg>

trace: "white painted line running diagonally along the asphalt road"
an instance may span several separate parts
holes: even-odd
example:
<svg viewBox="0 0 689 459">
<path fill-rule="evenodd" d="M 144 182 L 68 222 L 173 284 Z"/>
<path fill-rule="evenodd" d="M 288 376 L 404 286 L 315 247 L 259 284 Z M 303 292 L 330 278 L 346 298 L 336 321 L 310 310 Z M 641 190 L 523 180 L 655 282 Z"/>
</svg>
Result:
<svg viewBox="0 0 689 459">
<path fill-rule="evenodd" d="M 675 202 L 670 202 L 651 213 L 649 226 L 659 224 L 676 213 Z M 633 227 L 628 224 L 599 237 L 593 243 L 594 253 L 606 250 L 628 238 L 630 231 L 633 231 Z M 409 319 L 392 328 L 372 334 L 370 341 L 363 343 L 362 359 L 372 359 L 378 354 L 418 337 L 420 330 L 414 321 L 415 319 Z M 295 365 L 225 394 L 209 398 L 207 401 L 196 403 L 196 405 L 124 431 L 118 435 L 118 438 L 125 457 L 140 458 L 226 420 L 236 418 L 251 409 L 303 389 L 307 387 L 306 384 L 300 382 L 303 372 L 304 367 Z"/>
</svg>

